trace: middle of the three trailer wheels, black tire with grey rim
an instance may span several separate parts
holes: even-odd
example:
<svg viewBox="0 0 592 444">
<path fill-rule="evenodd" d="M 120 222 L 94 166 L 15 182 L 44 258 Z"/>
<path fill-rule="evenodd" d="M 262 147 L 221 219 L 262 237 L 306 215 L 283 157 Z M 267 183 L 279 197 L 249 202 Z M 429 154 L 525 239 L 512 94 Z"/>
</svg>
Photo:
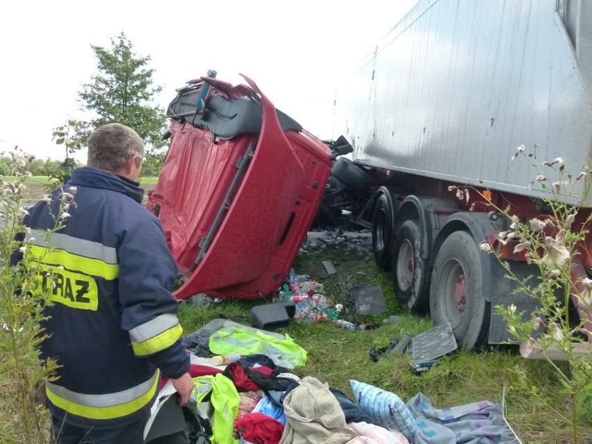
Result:
<svg viewBox="0 0 592 444">
<path fill-rule="evenodd" d="M 417 222 L 406 220 L 393 240 L 393 286 L 399 303 L 422 313 L 429 298 L 429 261 L 420 256 L 422 236 Z"/>
</svg>

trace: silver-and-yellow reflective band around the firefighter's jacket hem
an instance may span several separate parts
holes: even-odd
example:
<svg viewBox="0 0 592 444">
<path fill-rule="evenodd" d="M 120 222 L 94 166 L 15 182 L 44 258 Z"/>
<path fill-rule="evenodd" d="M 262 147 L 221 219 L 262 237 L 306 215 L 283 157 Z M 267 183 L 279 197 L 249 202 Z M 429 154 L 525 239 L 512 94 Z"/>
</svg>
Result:
<svg viewBox="0 0 592 444">
<path fill-rule="evenodd" d="M 140 384 L 140 386 L 133 387 L 129 390 L 124 390 L 120 393 L 106 395 L 83 395 L 80 393 L 74 393 L 60 386 L 47 383 L 45 393 L 47 393 L 47 397 L 54 405 L 74 415 L 95 420 L 115 419 L 130 415 L 131 413 L 140 410 L 143 406 L 148 404 L 152 400 L 152 397 L 158 388 L 159 376 L 160 372 L 157 371 L 154 376 L 149 379 L 149 381 L 146 381 L 149 383 L 149 390 L 147 391 L 145 391 L 145 388 L 143 388 L 146 383 L 143 383 Z M 134 393 L 138 391 L 138 388 L 142 389 L 143 392 L 140 396 L 134 397 L 128 402 L 120 402 L 119 404 L 115 404 L 119 400 L 126 398 L 129 399 L 130 396 L 133 396 Z M 63 395 L 60 396 L 56 392 L 64 393 L 71 399 L 67 399 L 63 397 Z M 79 402 L 75 402 L 74 400 L 78 400 Z M 81 404 L 81 401 L 86 402 L 86 404 Z"/>
</svg>

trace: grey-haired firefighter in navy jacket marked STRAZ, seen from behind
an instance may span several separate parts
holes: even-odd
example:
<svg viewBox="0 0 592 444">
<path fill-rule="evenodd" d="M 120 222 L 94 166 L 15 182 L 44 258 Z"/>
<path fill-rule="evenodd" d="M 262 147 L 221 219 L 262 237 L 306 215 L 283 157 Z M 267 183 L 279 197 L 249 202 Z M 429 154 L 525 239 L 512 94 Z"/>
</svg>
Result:
<svg viewBox="0 0 592 444">
<path fill-rule="evenodd" d="M 133 129 L 101 126 L 88 139 L 88 166 L 24 220 L 53 302 L 41 352 L 60 365 L 46 384 L 60 444 L 142 443 L 161 377 L 172 379 L 181 404 L 194 387 L 170 292 L 176 264 L 161 222 L 141 204 L 143 156 Z M 65 227 L 48 237 L 69 195 Z"/>
</svg>

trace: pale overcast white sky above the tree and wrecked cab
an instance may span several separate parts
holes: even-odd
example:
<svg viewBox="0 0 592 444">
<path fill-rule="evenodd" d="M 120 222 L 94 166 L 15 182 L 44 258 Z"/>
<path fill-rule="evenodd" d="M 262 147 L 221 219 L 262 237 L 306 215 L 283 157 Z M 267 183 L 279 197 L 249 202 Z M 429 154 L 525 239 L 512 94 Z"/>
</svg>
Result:
<svg viewBox="0 0 592 444">
<path fill-rule="evenodd" d="M 318 138 L 332 134 L 337 85 L 417 0 L 3 1 L 0 4 L 0 151 L 18 145 L 65 158 L 51 133 L 83 117 L 76 101 L 98 73 L 91 45 L 121 32 L 150 56 L 166 108 L 186 81 L 246 74 L 274 105 Z M 83 158 L 82 158 L 83 157 Z M 85 162 L 85 155 L 74 154 Z"/>
</svg>

